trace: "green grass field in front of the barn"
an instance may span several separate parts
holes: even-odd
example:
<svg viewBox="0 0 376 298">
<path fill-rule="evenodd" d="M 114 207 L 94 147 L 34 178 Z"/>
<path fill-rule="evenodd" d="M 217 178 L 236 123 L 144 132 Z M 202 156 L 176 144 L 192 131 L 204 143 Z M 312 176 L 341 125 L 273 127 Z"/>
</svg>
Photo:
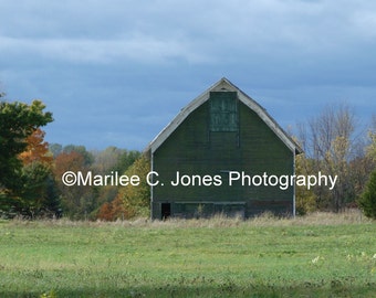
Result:
<svg viewBox="0 0 376 298">
<path fill-rule="evenodd" d="M 376 223 L 0 221 L 0 297 L 375 297 Z"/>
</svg>

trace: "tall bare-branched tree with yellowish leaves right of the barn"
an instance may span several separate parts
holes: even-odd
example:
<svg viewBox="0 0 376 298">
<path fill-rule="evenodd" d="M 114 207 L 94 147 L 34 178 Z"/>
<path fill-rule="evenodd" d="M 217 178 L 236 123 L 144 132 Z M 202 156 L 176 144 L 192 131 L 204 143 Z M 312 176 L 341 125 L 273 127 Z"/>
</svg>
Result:
<svg viewBox="0 0 376 298">
<path fill-rule="evenodd" d="M 345 105 L 327 106 L 317 117 L 300 127 L 300 141 L 307 159 L 312 160 L 311 173 L 338 175 L 336 185 L 328 190 L 315 187 L 316 206 L 338 212 L 347 202 L 355 200 L 352 188 L 349 161 L 354 159 L 355 117 Z"/>
</svg>

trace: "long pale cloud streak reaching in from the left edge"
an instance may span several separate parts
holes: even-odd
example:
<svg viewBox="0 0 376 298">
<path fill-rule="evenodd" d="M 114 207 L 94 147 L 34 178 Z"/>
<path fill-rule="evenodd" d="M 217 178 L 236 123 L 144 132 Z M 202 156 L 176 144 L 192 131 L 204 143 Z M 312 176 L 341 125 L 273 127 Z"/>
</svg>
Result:
<svg viewBox="0 0 376 298">
<path fill-rule="evenodd" d="M 138 63 L 163 63 L 181 58 L 190 63 L 209 62 L 195 53 L 189 43 L 137 35 L 119 40 L 14 39 L 0 36 L 0 51 L 75 63 L 114 63 L 130 60 Z"/>
</svg>

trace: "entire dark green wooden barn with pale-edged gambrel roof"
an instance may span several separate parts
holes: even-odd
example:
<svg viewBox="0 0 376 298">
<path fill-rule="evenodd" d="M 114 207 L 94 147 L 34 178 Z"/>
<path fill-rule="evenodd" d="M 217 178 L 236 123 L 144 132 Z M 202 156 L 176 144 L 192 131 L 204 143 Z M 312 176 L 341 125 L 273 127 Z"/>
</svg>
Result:
<svg viewBox="0 0 376 298">
<path fill-rule="evenodd" d="M 146 152 L 152 219 L 295 215 L 294 183 L 275 182 L 294 174 L 302 150 L 227 78 L 184 107 Z"/>
</svg>

